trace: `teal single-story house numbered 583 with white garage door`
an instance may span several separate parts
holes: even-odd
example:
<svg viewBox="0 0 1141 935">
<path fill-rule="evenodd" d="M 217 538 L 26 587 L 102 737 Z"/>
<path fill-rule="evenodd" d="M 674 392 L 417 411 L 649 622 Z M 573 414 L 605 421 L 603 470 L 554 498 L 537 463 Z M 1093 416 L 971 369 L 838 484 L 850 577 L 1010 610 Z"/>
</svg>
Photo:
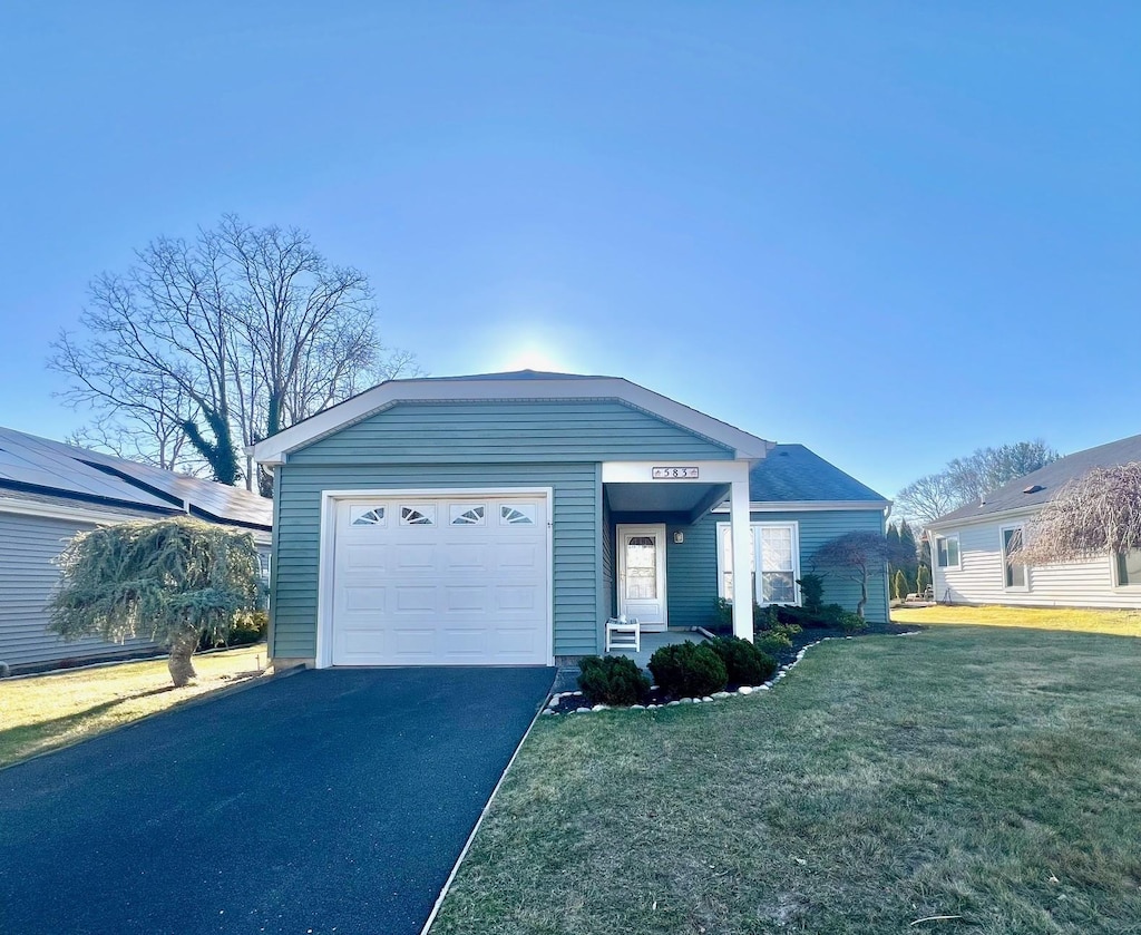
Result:
<svg viewBox="0 0 1141 935">
<path fill-rule="evenodd" d="M 269 652 L 278 664 L 552 664 L 606 621 L 707 627 L 718 597 L 798 604 L 824 542 L 889 503 L 615 377 L 390 380 L 256 445 L 274 473 Z M 858 585 L 825 578 L 853 608 Z M 869 620 L 888 615 L 887 574 Z"/>
</svg>

